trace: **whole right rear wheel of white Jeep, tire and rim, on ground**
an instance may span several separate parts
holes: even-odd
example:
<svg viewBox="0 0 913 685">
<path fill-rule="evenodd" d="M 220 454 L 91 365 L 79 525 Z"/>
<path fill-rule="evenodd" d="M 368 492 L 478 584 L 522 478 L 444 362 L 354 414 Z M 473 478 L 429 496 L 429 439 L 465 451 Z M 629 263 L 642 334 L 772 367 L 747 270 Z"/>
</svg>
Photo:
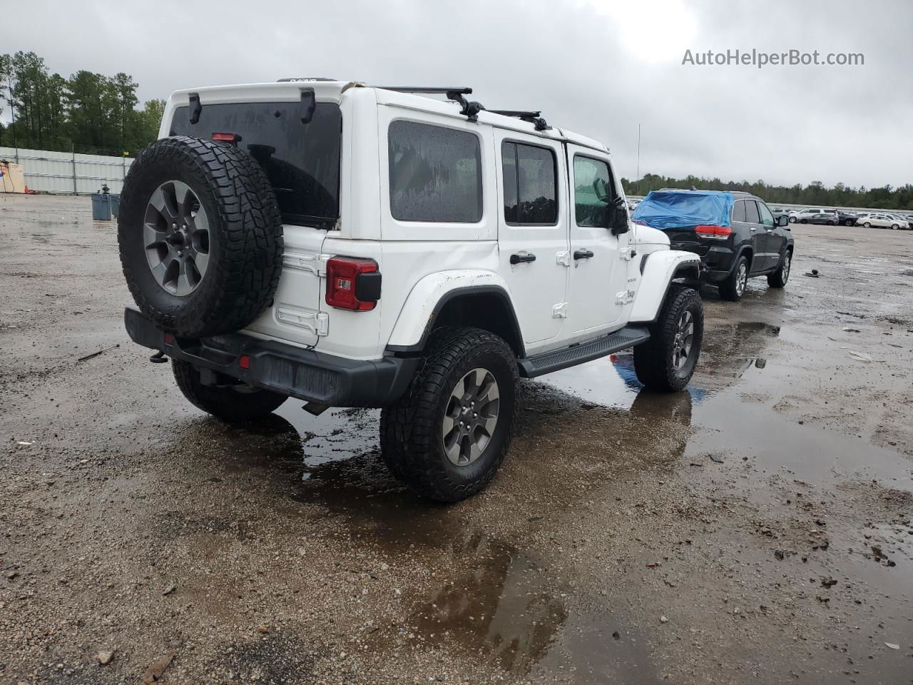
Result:
<svg viewBox="0 0 913 685">
<path fill-rule="evenodd" d="M 492 479 L 513 436 L 517 362 L 494 333 L 441 328 L 412 383 L 381 412 L 383 460 L 436 501 L 459 501 Z"/>
</svg>

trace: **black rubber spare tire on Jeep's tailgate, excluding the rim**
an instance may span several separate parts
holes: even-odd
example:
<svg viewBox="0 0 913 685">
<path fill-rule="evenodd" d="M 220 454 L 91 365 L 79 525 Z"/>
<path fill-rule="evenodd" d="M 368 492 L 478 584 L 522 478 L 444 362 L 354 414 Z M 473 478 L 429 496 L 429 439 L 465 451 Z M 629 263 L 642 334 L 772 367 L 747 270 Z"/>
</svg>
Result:
<svg viewBox="0 0 913 685">
<path fill-rule="evenodd" d="M 177 296 L 152 275 L 143 225 L 160 185 L 187 184 L 209 223 L 208 266 L 195 290 Z M 225 143 L 174 136 L 131 164 L 121 193 L 118 243 L 124 278 L 143 314 L 167 332 L 204 337 L 234 332 L 272 300 L 282 269 L 282 216 L 266 174 Z"/>
</svg>

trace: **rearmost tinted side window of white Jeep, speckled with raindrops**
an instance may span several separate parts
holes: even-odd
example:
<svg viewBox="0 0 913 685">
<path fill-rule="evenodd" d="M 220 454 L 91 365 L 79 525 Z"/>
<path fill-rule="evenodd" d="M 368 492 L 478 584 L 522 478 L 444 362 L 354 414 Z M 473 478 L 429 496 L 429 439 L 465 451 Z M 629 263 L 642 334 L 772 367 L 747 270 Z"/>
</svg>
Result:
<svg viewBox="0 0 913 685">
<path fill-rule="evenodd" d="M 387 140 L 394 218 L 458 224 L 482 218 L 482 153 L 475 133 L 394 121 Z"/>
</svg>

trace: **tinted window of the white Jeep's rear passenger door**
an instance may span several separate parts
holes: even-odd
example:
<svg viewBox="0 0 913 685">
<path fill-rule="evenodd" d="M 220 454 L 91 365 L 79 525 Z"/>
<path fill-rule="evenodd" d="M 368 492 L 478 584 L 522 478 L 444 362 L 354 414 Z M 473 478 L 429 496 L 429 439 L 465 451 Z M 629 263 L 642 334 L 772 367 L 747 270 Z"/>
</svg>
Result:
<svg viewBox="0 0 913 685">
<path fill-rule="evenodd" d="M 504 220 L 509 224 L 552 225 L 558 221 L 555 154 L 536 145 L 501 143 Z"/>
</svg>

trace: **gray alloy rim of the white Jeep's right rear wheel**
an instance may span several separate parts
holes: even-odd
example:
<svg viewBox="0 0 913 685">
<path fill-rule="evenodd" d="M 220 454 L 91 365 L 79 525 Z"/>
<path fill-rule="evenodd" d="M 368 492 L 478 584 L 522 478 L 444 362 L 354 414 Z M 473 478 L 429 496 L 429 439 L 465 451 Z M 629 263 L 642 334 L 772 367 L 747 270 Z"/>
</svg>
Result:
<svg viewBox="0 0 913 685">
<path fill-rule="evenodd" d="M 441 423 L 451 463 L 467 466 L 482 455 L 498 426 L 499 396 L 498 381 L 487 369 L 473 369 L 456 384 Z"/>
</svg>

